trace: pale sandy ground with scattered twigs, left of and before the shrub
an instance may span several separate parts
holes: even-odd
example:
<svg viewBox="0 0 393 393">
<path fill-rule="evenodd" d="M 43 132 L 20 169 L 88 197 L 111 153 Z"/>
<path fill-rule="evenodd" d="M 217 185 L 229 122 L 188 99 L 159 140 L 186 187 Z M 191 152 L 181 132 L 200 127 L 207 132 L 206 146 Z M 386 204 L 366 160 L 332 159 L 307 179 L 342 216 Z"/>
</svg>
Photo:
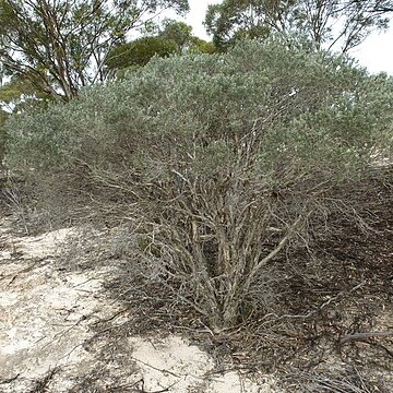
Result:
<svg viewBox="0 0 393 393">
<path fill-rule="evenodd" d="M 250 381 L 237 371 L 214 372 L 213 359 L 179 336 L 124 337 L 110 360 L 85 345 L 92 325 L 121 310 L 103 288 L 112 269 L 69 272 L 57 257 L 75 229 L 15 237 L 0 223 L 0 392 L 88 392 L 81 381 L 106 370 L 100 390 L 131 392 L 277 392 L 270 377 Z M 114 318 L 111 323 L 121 322 Z M 124 361 L 126 359 L 126 361 Z M 109 389 L 110 386 L 110 389 Z"/>
</svg>

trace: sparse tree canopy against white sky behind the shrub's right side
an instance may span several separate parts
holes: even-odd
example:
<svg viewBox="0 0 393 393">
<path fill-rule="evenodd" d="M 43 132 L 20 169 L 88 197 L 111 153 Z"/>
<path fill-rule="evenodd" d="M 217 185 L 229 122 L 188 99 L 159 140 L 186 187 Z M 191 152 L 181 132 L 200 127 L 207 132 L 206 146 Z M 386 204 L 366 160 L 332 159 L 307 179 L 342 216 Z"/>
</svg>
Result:
<svg viewBox="0 0 393 393">
<path fill-rule="evenodd" d="M 388 27 L 392 0 L 224 0 L 209 7 L 205 25 L 218 47 L 272 32 L 298 33 L 318 48 L 342 52 Z"/>
</svg>

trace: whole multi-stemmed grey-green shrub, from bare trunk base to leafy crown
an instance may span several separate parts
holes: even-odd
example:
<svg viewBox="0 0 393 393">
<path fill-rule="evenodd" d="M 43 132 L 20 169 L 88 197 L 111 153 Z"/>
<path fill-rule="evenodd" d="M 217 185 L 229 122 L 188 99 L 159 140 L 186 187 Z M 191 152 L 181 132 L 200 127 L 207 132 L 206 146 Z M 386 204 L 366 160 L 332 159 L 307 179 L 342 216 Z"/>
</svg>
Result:
<svg viewBox="0 0 393 393">
<path fill-rule="evenodd" d="M 62 194 L 79 190 L 106 213 L 142 219 L 219 330 L 334 186 L 376 152 L 391 154 L 392 87 L 345 57 L 245 41 L 225 55 L 156 59 L 68 105 L 14 117 L 7 162 L 49 191 L 61 182 Z"/>
</svg>

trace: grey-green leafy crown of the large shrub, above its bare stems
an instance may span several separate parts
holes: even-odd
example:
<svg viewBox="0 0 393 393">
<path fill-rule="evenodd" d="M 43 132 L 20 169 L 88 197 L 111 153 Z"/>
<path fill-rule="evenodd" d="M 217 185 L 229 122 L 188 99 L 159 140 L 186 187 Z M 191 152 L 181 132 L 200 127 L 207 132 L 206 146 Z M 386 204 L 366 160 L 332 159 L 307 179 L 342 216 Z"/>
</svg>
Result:
<svg viewBox="0 0 393 393">
<path fill-rule="evenodd" d="M 322 165 L 332 154 L 346 160 L 356 148 L 358 156 L 386 135 L 391 105 L 391 79 L 368 75 L 350 59 L 288 49 L 276 39 L 248 41 L 227 55 L 157 59 L 124 81 L 83 90 L 68 105 L 13 118 L 9 162 L 46 166 L 55 151 L 56 159 L 96 159 L 88 145 L 99 150 L 103 166 L 122 165 L 145 157 L 158 141 L 165 144 L 155 154 L 176 162 L 175 155 L 210 154 L 218 145 L 229 153 L 254 128 L 263 134 L 261 157 Z"/>
</svg>

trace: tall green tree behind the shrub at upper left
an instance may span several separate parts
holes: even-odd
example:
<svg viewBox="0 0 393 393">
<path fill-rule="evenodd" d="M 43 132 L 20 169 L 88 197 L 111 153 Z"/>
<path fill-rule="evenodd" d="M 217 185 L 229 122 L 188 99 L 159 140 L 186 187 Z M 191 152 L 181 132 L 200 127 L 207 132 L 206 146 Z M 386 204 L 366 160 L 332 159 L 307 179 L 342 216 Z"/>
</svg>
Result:
<svg viewBox="0 0 393 393">
<path fill-rule="evenodd" d="M 186 12 L 188 0 L 0 0 L 0 62 L 69 100 L 105 81 L 110 49 L 169 8 Z"/>
</svg>

